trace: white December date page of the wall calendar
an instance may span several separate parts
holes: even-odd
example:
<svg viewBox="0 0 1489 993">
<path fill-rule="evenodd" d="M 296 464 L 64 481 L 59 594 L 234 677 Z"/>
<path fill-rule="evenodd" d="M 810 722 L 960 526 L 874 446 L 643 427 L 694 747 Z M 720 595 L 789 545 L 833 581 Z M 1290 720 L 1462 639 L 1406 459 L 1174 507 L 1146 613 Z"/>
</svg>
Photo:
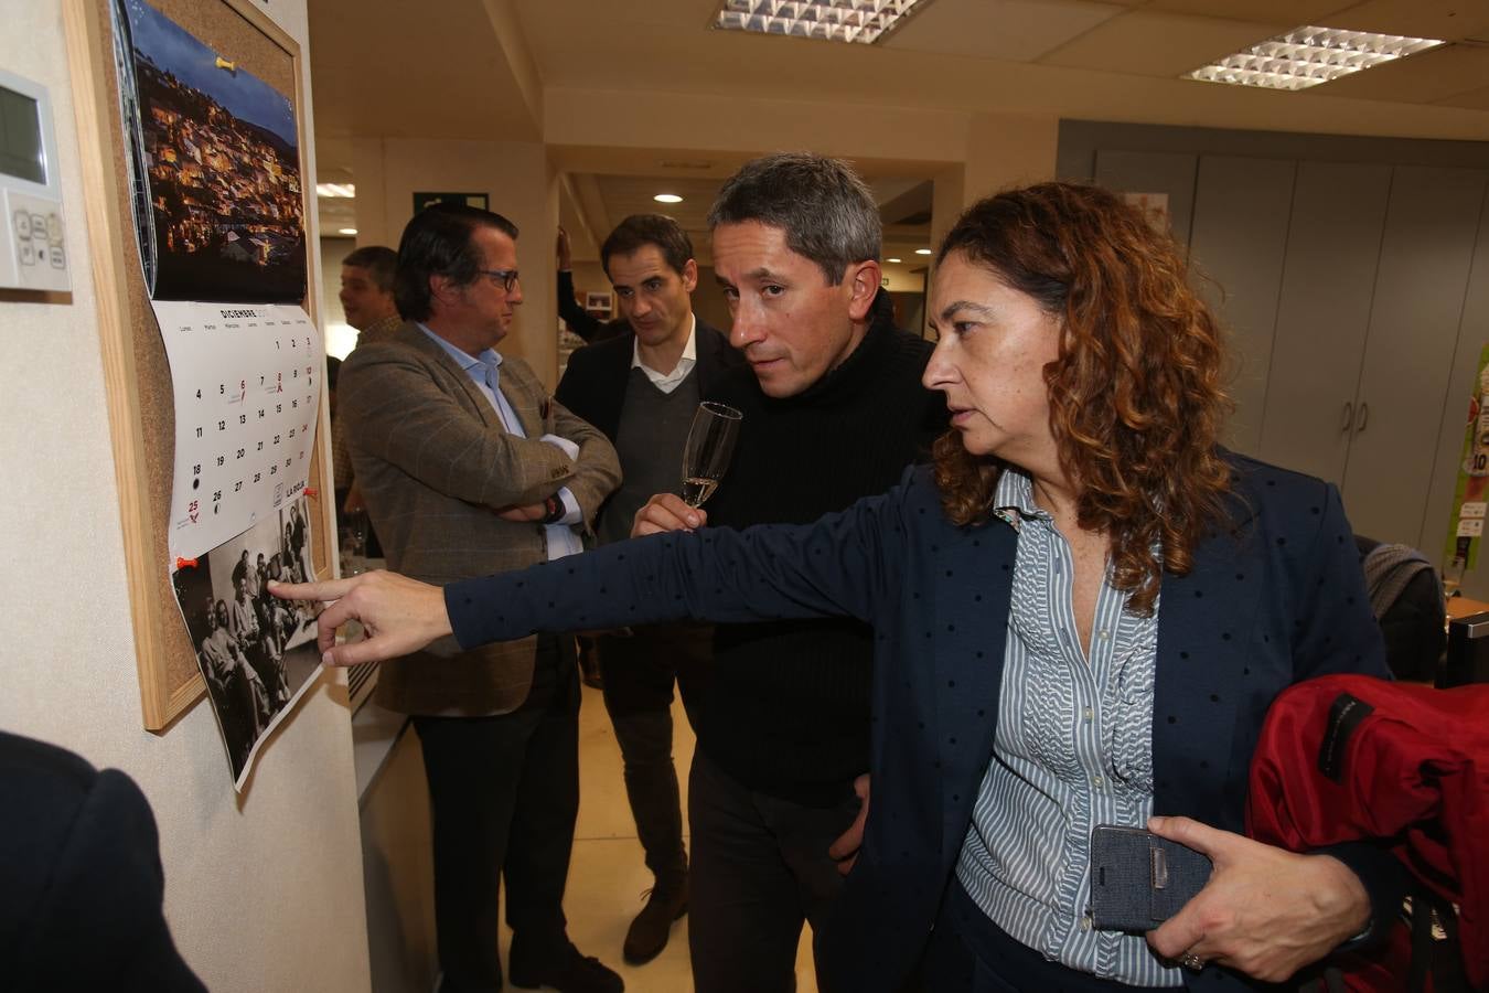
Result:
<svg viewBox="0 0 1489 993">
<path fill-rule="evenodd" d="M 155 313 L 176 396 L 174 563 L 305 491 L 326 360 L 299 307 L 155 301 Z"/>
</svg>

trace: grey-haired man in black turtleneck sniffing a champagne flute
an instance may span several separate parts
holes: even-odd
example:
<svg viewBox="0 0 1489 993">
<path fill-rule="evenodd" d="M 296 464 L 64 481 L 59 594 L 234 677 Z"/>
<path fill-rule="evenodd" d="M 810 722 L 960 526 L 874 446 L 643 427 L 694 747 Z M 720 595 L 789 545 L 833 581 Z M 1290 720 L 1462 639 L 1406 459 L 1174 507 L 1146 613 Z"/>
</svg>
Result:
<svg viewBox="0 0 1489 993">
<path fill-rule="evenodd" d="M 744 423 L 707 514 L 652 497 L 634 534 L 806 523 L 893 485 L 946 426 L 920 386 L 931 344 L 893 326 L 880 219 L 843 162 L 746 164 L 709 216 L 713 265 L 750 369 L 719 399 Z M 700 993 L 795 989 L 856 850 L 870 759 L 871 631 L 852 621 L 719 625 L 689 779 L 689 945 Z M 846 869 L 844 869 L 846 871 Z"/>
</svg>

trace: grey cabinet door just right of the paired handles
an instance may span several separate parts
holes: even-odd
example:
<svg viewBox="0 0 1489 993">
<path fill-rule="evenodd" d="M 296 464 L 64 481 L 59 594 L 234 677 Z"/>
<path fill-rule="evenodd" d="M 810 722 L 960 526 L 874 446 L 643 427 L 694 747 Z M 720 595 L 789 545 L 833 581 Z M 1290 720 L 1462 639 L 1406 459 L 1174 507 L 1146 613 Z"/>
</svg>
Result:
<svg viewBox="0 0 1489 993">
<path fill-rule="evenodd" d="M 1356 533 L 1415 543 L 1468 289 L 1483 171 L 1398 165 L 1345 469 Z"/>
</svg>

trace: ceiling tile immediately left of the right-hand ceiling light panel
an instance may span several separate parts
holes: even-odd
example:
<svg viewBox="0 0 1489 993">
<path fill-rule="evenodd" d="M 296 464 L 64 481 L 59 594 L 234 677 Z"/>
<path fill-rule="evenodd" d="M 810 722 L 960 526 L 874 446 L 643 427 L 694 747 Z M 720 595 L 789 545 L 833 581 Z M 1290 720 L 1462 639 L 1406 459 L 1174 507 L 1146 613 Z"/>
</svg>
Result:
<svg viewBox="0 0 1489 993">
<path fill-rule="evenodd" d="M 1179 76 L 1281 34 L 1288 27 L 1132 10 L 1038 61 L 1111 73 Z"/>
</svg>

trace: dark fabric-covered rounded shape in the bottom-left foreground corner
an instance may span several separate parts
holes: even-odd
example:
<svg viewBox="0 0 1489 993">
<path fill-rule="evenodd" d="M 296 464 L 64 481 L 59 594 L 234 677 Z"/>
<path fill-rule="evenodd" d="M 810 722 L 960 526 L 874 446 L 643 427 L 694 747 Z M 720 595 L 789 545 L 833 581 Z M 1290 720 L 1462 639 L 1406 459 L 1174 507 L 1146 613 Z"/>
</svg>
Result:
<svg viewBox="0 0 1489 993">
<path fill-rule="evenodd" d="M 118 770 L 0 732 L 0 960 L 16 990 L 197 993 L 150 805 Z"/>
</svg>

